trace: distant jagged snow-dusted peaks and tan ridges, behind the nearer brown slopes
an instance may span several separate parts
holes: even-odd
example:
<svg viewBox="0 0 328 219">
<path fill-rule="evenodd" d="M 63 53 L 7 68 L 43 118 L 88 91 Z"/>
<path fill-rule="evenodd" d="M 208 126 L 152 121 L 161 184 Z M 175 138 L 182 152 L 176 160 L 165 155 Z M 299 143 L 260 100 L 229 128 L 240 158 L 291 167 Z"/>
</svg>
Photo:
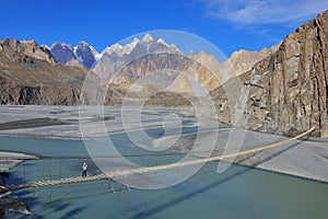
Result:
<svg viewBox="0 0 328 219">
<path fill-rule="evenodd" d="M 225 62 L 219 64 L 214 56 L 204 51 L 198 55 L 192 51 L 184 54 L 176 45 L 168 45 L 163 38 L 154 39 L 145 34 L 143 38 L 133 38 L 126 45 L 108 46 L 101 54 L 85 42 L 75 47 L 55 43 L 50 53 L 58 62 L 84 66 L 104 82 L 120 85 L 124 90 L 131 84 L 137 87 L 138 81 L 138 87 L 149 93 L 157 88 L 161 91 L 201 95 L 248 70 L 277 48 L 278 45 L 261 51 L 239 50 Z M 192 70 L 195 68 L 197 70 Z"/>
</svg>

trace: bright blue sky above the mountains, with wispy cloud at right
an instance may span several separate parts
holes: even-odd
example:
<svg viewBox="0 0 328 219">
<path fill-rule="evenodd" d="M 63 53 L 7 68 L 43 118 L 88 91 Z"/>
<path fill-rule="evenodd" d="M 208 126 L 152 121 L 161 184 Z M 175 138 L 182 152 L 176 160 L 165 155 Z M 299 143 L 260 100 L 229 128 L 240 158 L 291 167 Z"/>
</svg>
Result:
<svg viewBox="0 0 328 219">
<path fill-rule="evenodd" d="M 328 0 L 0 0 L 0 38 L 39 45 L 85 41 L 102 51 L 140 32 L 177 30 L 226 56 L 279 43 L 328 9 Z M 178 45 L 179 46 L 179 45 Z"/>
</svg>

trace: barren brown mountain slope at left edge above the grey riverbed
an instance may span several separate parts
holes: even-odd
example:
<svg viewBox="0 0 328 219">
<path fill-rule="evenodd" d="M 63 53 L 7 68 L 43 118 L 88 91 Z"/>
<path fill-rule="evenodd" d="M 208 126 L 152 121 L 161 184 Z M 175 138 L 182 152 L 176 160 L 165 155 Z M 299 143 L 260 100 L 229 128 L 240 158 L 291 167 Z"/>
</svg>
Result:
<svg viewBox="0 0 328 219">
<path fill-rule="evenodd" d="M 0 104 L 77 105 L 86 76 L 91 81 L 87 103 L 102 100 L 99 80 L 85 68 L 55 64 L 15 47 L 0 50 Z M 51 60 L 51 59 L 50 59 Z M 110 96 L 110 94 L 109 94 Z M 107 96 L 106 101 L 112 102 Z"/>
</svg>

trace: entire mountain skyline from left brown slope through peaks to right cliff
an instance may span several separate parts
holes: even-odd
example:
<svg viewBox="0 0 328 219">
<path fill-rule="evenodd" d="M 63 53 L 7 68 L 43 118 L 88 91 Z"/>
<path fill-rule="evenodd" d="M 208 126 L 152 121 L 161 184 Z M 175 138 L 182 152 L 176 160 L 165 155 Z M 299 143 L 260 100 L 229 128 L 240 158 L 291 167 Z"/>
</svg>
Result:
<svg viewBox="0 0 328 219">
<path fill-rule="evenodd" d="M 190 105 L 190 97 L 201 99 L 204 92 L 227 125 L 235 125 L 244 96 L 246 128 L 294 136 L 315 126 L 315 136 L 328 137 L 327 30 L 326 11 L 280 44 L 261 51 L 235 51 L 224 62 L 204 51 L 184 54 L 150 34 L 102 53 L 85 42 L 48 48 L 34 41 L 3 39 L 0 103 L 120 104 L 127 97 L 176 107 Z M 91 85 L 82 95 L 85 80 Z"/>
</svg>

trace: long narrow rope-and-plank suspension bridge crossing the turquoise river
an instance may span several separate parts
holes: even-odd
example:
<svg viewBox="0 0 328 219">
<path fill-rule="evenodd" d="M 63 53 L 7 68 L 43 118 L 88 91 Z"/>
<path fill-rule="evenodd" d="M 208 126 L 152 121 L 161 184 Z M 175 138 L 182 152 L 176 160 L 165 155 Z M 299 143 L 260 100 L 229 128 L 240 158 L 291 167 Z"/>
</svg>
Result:
<svg viewBox="0 0 328 219">
<path fill-rule="evenodd" d="M 154 172 L 154 171 L 161 171 L 161 170 L 167 170 L 167 169 L 174 169 L 174 168 L 181 168 L 187 165 L 195 165 L 200 163 L 207 163 L 211 161 L 220 161 L 229 158 L 235 158 L 238 155 L 246 155 L 250 153 L 260 152 L 263 150 L 268 150 L 270 148 L 276 148 L 285 143 L 289 143 L 291 141 L 297 140 L 302 137 L 307 136 L 312 131 L 315 130 L 315 127 L 312 127 L 311 129 L 293 137 L 289 138 L 286 140 L 271 143 L 268 146 L 245 150 L 241 152 L 224 154 L 224 155 L 218 155 L 218 157 L 211 157 L 211 158 L 203 158 L 203 159 L 197 159 L 191 161 L 184 161 L 184 162 L 176 162 L 171 164 L 162 164 L 162 165 L 155 165 L 155 166 L 149 166 L 149 168 L 140 168 L 140 169 L 131 169 L 131 170 L 125 170 L 125 171 L 116 171 L 110 173 L 101 173 L 96 175 L 90 175 L 90 176 L 74 176 L 74 177 L 65 177 L 60 180 L 48 180 L 48 181 L 37 181 L 32 183 L 25 183 L 25 184 L 11 184 L 7 186 L 0 186 L 0 191 L 15 191 L 21 188 L 38 188 L 38 187 L 45 187 L 45 186 L 55 186 L 55 185 L 61 185 L 61 184 L 73 184 L 73 183 L 83 183 L 83 182 L 90 182 L 90 181 L 99 181 L 99 180 L 116 180 L 116 178 L 122 178 L 130 176 L 132 174 L 140 174 L 140 173 L 147 173 L 147 172 Z"/>
</svg>

